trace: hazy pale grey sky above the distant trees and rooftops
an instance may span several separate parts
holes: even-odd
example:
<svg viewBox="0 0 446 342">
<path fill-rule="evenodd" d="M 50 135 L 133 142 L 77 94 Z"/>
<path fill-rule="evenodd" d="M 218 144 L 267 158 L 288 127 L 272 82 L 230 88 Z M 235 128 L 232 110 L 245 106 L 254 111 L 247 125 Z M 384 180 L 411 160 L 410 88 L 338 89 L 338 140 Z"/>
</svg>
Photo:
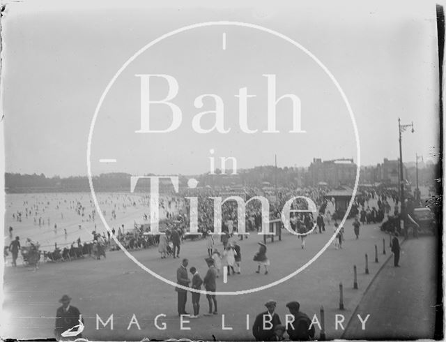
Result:
<svg viewBox="0 0 446 342">
<path fill-rule="evenodd" d="M 160 2 L 160 1 L 158 1 Z M 362 165 L 397 158 L 398 117 L 413 121 L 403 133 L 403 160 L 424 161 L 438 151 L 438 57 L 435 4 L 341 1 L 163 1 L 160 4 L 11 3 L 2 20 L 2 98 L 6 172 L 48 176 L 86 174 L 86 147 L 95 107 L 107 84 L 133 54 L 155 38 L 200 22 L 260 25 L 312 52 L 334 75 L 355 114 Z M 271 2 L 272 3 L 272 2 Z M 404 6 L 403 6 L 404 3 Z M 422 4 L 422 5 L 421 5 Z M 343 6 L 344 5 L 344 6 Z M 348 8 L 348 10 L 346 10 Z M 226 45 L 223 47 L 223 35 Z M 178 81 L 172 100 L 182 110 L 171 133 L 135 133 L 141 121 L 139 74 Z M 276 75 L 277 98 L 300 99 L 302 129 L 289 133 L 291 100 L 277 105 L 279 134 L 267 126 L 267 79 Z M 152 82 L 153 81 L 153 82 Z M 167 82 L 151 81 L 151 98 L 167 95 Z M 238 126 L 238 89 L 247 87 L 248 127 Z M 217 94 L 227 134 L 198 134 L 192 118 L 215 110 L 197 96 Z M 151 106 L 153 128 L 171 121 L 166 105 Z M 210 115 L 203 128 L 210 128 Z M 302 50 L 248 27 L 201 27 L 171 36 L 141 53 L 110 88 L 98 112 L 91 145 L 94 173 L 194 174 L 215 156 L 233 156 L 238 168 L 309 165 L 312 158 L 354 158 L 357 147 L 346 105 L 327 74 Z M 99 163 L 116 158 L 116 163 Z"/>
</svg>

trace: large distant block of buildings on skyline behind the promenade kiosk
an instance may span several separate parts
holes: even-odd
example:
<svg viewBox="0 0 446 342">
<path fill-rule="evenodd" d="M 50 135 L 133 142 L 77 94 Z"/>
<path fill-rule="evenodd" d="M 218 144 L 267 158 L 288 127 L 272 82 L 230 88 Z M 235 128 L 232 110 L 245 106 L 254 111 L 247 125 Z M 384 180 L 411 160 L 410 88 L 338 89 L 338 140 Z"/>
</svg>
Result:
<svg viewBox="0 0 446 342">
<path fill-rule="evenodd" d="M 355 184 L 357 166 L 353 159 L 334 159 L 322 161 L 321 158 L 313 158 L 308 168 L 309 183 L 317 186 L 325 182 L 330 187 L 340 185 L 353 186 Z"/>
</svg>

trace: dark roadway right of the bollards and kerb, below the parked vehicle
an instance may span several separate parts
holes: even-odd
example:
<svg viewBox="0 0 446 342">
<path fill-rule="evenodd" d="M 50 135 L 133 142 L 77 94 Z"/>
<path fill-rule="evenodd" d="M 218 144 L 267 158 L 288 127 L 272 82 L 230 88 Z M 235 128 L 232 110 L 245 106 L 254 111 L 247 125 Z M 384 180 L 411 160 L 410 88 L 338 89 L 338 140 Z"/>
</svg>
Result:
<svg viewBox="0 0 446 342">
<path fill-rule="evenodd" d="M 368 326 L 352 320 L 344 339 L 433 339 L 439 255 L 436 237 L 406 240 L 400 267 L 391 258 L 357 307 Z"/>
</svg>

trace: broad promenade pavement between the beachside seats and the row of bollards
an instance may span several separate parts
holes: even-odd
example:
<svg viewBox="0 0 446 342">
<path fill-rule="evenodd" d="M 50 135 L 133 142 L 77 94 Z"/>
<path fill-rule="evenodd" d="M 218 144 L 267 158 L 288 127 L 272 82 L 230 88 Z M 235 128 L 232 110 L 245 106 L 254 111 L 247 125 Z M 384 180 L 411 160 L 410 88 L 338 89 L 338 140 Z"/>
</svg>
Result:
<svg viewBox="0 0 446 342">
<path fill-rule="evenodd" d="M 381 232 L 378 224 L 361 227 L 360 239 L 353 234 L 351 220 L 345 227 L 344 248 L 337 250 L 333 244 L 302 272 L 272 288 L 244 295 L 217 296 L 219 315 L 190 320 L 180 329 L 180 319 L 176 313 L 176 292 L 174 288 L 147 274 L 135 265 L 122 251 L 107 254 L 105 260 L 75 260 L 63 264 L 41 265 L 38 272 L 25 267 L 8 267 L 4 277 L 5 301 L 3 310 L 8 315 L 3 320 L 2 336 L 17 339 L 52 337 L 54 315 L 59 306 L 58 299 L 63 294 L 72 297 L 72 305 L 77 306 L 85 320 L 84 336 L 100 340 L 138 340 L 188 338 L 249 340 L 255 315 L 265 310 L 263 304 L 268 299 L 277 301 L 277 313 L 284 322 L 288 310 L 285 304 L 297 300 L 302 311 L 310 317 L 316 314 L 320 320 L 320 308 L 325 309 L 325 331 L 328 339 L 339 339 L 343 329 L 335 327 L 335 315 L 344 315 L 344 327 L 360 302 L 364 290 L 380 269 L 388 248 L 389 236 Z M 319 235 L 307 237 L 306 248 L 300 248 L 300 239 L 284 230 L 282 241 L 268 242 L 268 258 L 271 265 L 269 274 L 256 274 L 256 262 L 252 260 L 259 248 L 261 236 L 252 233 L 249 239 L 240 241 L 242 248 L 242 274 L 230 276 L 226 284 L 222 276 L 217 281 L 218 291 L 240 291 L 268 285 L 279 281 L 296 269 L 305 265 L 328 242 L 333 227 Z M 383 239 L 387 254 L 383 255 Z M 379 262 L 374 262 L 375 244 L 378 246 Z M 187 241 L 181 246 L 181 258 L 189 258 L 189 266 L 195 266 L 201 276 L 206 274 L 206 241 Z M 222 245 L 217 242 L 222 251 Z M 369 274 L 364 272 L 364 255 L 369 255 Z M 160 260 L 157 248 L 132 252 L 134 258 L 165 278 L 176 281 L 176 269 L 180 259 Z M 353 265 L 357 265 L 359 289 L 353 289 Z M 339 310 L 339 283 L 344 285 L 344 310 Z M 201 313 L 207 310 L 207 301 L 201 295 Z M 191 296 L 188 295 L 187 311 L 192 312 Z M 167 329 L 155 327 L 154 319 L 159 314 L 158 324 L 165 322 Z M 97 315 L 105 322 L 114 315 L 114 329 L 110 325 L 97 326 Z M 130 325 L 132 315 L 139 322 Z M 223 329 L 222 314 L 225 327 Z M 247 318 L 247 315 L 249 317 Z M 247 322 L 248 321 L 248 322 Z M 128 329 L 129 328 L 129 329 Z M 319 329 L 316 326 L 316 336 Z"/>
</svg>

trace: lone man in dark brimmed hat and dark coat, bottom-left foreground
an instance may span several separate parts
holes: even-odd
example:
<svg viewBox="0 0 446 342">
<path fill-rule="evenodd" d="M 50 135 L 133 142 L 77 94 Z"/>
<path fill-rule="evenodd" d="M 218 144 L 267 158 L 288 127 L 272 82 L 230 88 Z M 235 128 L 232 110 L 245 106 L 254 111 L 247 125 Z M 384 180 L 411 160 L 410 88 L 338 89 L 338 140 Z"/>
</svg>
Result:
<svg viewBox="0 0 446 342">
<path fill-rule="evenodd" d="M 82 324 L 84 323 L 81 313 L 75 306 L 70 305 L 70 302 L 71 297 L 68 295 L 63 295 L 62 298 L 59 299 L 59 303 L 62 303 L 62 306 L 56 311 L 56 327 L 54 328 L 54 335 L 57 340 L 66 340 L 69 338 L 69 336 L 62 336 L 63 332 L 67 332 L 72 329 L 72 327 L 79 325 L 79 320 L 82 321 Z M 82 330 L 83 329 L 81 329 L 81 332 Z M 82 337 L 81 332 L 71 337 L 73 339 L 79 339 Z"/>
</svg>

